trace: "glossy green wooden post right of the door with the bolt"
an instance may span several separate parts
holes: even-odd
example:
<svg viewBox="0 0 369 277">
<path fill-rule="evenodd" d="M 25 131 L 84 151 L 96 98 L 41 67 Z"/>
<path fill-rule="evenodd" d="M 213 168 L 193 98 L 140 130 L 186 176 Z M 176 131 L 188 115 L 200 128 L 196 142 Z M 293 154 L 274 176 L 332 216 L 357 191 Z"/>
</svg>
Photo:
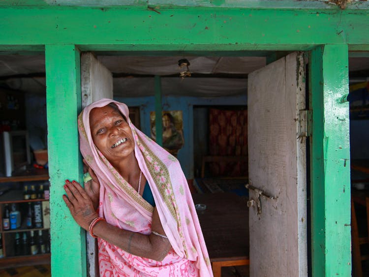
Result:
<svg viewBox="0 0 369 277">
<path fill-rule="evenodd" d="M 348 48 L 311 51 L 312 276 L 351 276 Z"/>
</svg>

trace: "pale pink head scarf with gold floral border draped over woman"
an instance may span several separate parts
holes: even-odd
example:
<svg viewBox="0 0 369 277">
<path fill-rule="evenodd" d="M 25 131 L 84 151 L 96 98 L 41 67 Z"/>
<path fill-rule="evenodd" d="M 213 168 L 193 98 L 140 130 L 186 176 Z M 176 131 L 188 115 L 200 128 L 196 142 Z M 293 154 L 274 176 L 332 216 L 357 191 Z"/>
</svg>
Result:
<svg viewBox="0 0 369 277">
<path fill-rule="evenodd" d="M 104 107 L 109 103 L 117 105 L 132 129 L 136 159 L 150 185 L 161 224 L 174 252 L 179 257 L 193 261 L 199 276 L 213 276 L 208 251 L 180 163 L 131 123 L 125 104 L 111 99 L 92 103 L 78 117 L 81 153 L 100 182 L 99 215 L 122 229 L 151 233 L 154 208 L 122 178 L 92 141 L 90 112 L 93 108 Z M 100 250 L 99 247 L 99 257 Z M 116 255 L 113 252 L 110 255 Z M 130 254 L 125 252 L 125 256 L 127 255 Z M 100 261 L 100 273 L 101 264 Z M 143 268 L 142 271 L 146 269 Z"/>
</svg>

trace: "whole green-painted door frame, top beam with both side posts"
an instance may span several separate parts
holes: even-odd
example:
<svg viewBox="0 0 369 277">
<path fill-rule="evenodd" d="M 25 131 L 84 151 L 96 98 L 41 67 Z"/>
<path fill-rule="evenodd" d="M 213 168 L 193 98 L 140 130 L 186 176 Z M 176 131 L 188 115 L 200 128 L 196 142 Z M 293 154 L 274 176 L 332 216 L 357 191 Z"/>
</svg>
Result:
<svg viewBox="0 0 369 277">
<path fill-rule="evenodd" d="M 319 8 L 299 7 L 304 1 L 273 1 L 273 8 L 222 8 L 212 1 L 206 7 L 176 6 L 179 1 L 154 7 L 146 1 L 125 7 L 7 2 L 0 4 L 0 51 L 45 52 L 53 276 L 86 276 L 85 232 L 62 201 L 64 180 L 82 181 L 76 123 L 80 51 L 247 56 L 268 50 L 310 51 L 312 273 L 350 276 L 349 106 L 339 99 L 348 92 L 348 50 L 369 51 L 369 28 L 363 25 L 369 19 L 368 6 L 340 10 L 323 8 L 322 3 Z M 299 3 L 278 8 L 277 2 Z"/>
</svg>

